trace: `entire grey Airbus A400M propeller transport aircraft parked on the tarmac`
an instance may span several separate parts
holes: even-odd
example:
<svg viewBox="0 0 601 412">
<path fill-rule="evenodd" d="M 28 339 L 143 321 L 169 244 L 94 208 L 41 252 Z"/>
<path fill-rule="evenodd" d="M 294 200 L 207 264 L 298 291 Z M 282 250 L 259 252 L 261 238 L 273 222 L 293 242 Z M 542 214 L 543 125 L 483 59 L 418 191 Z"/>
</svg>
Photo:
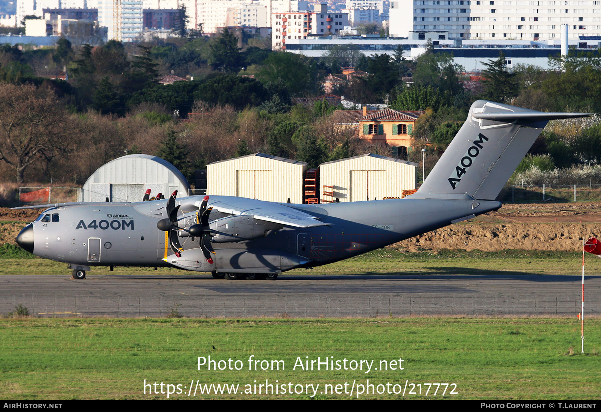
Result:
<svg viewBox="0 0 601 412">
<path fill-rule="evenodd" d="M 299 205 L 174 193 L 47 205 L 17 243 L 68 263 L 76 279 L 92 266 L 133 265 L 276 279 L 498 209 L 496 196 L 548 121 L 584 116 L 478 100 L 424 184 L 404 199 Z"/>
</svg>

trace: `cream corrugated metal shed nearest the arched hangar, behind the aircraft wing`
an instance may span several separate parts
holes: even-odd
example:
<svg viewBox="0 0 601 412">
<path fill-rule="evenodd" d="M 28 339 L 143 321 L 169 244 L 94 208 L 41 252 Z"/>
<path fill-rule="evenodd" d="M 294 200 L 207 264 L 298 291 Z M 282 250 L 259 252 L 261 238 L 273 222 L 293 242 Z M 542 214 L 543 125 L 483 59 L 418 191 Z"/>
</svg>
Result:
<svg viewBox="0 0 601 412">
<path fill-rule="evenodd" d="M 207 165 L 207 195 L 302 203 L 306 166 L 305 162 L 264 153 L 213 162 Z"/>
</svg>

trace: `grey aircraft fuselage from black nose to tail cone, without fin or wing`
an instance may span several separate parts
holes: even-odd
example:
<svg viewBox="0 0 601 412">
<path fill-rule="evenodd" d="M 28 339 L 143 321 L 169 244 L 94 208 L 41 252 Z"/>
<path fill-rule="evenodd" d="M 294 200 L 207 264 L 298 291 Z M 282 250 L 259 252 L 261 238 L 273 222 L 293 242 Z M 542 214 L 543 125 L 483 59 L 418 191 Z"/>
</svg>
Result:
<svg viewBox="0 0 601 412">
<path fill-rule="evenodd" d="M 227 199 L 213 196 L 212 200 Z M 182 257 L 172 252 L 167 232 L 157 228 L 166 201 L 76 204 L 50 208 L 17 240 L 34 255 L 72 267 L 174 266 L 216 273 L 281 273 L 350 258 L 421 234 L 453 220 L 496 210 L 499 202 L 450 199 L 391 199 L 287 207 L 325 226 L 267 230 L 252 240 L 213 243 L 215 259 L 204 259 L 199 238 L 180 237 Z M 183 211 L 182 220 L 185 220 Z"/>
</svg>

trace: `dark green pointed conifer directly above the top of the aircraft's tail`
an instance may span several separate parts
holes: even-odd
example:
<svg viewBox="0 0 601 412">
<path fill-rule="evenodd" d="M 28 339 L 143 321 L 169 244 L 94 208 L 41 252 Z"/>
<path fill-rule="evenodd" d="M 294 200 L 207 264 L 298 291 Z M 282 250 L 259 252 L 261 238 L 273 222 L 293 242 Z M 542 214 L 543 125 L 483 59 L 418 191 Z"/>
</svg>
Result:
<svg viewBox="0 0 601 412">
<path fill-rule="evenodd" d="M 486 68 L 482 70 L 484 76 L 484 98 L 505 103 L 510 98 L 519 94 L 516 73 L 507 70 L 505 53 L 500 52 L 499 58 L 483 62 Z"/>
</svg>

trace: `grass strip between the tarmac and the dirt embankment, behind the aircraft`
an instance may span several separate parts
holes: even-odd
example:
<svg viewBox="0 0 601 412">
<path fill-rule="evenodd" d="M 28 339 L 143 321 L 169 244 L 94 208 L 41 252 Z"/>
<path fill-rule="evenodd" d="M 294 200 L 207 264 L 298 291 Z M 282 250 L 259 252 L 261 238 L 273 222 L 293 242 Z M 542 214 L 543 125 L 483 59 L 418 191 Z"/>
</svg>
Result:
<svg viewBox="0 0 601 412">
<path fill-rule="evenodd" d="M 0 276 L 5 274 L 70 274 L 67 265 L 36 258 L 18 246 L 0 247 Z M 587 255 L 589 273 L 601 271 L 601 259 Z M 108 267 L 92 268 L 94 274 L 111 274 Z M 540 250 L 502 250 L 481 252 L 480 250 L 441 250 L 440 252 L 399 252 L 394 249 L 379 249 L 356 258 L 316 267 L 311 270 L 297 269 L 283 276 L 317 274 L 555 274 L 576 275 L 582 273 L 582 252 L 551 252 Z M 117 267 L 114 274 L 174 274 L 181 276 L 185 271 L 175 268 Z"/>
</svg>

